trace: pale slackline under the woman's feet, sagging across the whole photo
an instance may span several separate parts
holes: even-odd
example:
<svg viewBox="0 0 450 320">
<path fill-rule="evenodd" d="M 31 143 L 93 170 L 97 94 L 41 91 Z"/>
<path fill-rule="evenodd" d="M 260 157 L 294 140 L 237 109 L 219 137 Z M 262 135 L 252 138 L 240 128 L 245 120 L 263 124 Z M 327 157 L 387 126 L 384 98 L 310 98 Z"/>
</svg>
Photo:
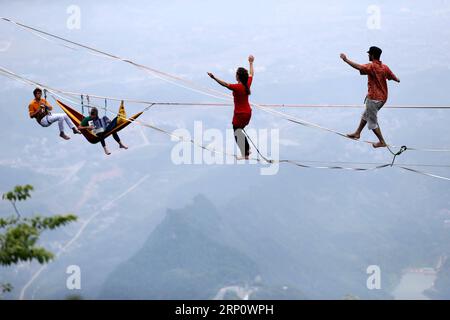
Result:
<svg viewBox="0 0 450 320">
<path fill-rule="evenodd" d="M 30 79 L 27 79 L 27 78 L 22 77 L 22 76 L 19 76 L 19 75 L 15 74 L 15 73 L 13 73 L 11 71 L 5 72 L 3 68 L 0 68 L 0 72 L 3 75 L 5 75 L 5 76 L 7 76 L 7 77 L 9 77 L 11 79 L 14 79 L 16 81 L 21 81 L 21 82 L 23 82 L 25 84 L 38 86 L 38 87 L 41 87 L 41 88 L 47 90 L 52 95 L 52 97 L 55 100 L 56 100 L 56 97 L 58 97 L 58 98 L 60 98 L 62 100 L 66 100 L 66 101 L 69 101 L 71 103 L 79 105 L 79 103 L 77 101 L 65 97 L 64 96 L 64 92 L 62 90 L 53 89 L 53 88 L 51 88 L 49 86 L 43 85 L 42 83 L 39 83 L 39 82 L 30 80 Z M 151 106 L 153 106 L 153 105 L 149 105 L 146 108 L 146 110 L 149 109 Z M 100 109 L 100 108 L 103 108 L 103 107 L 98 106 L 98 108 Z M 112 114 L 112 115 L 114 115 L 116 117 L 121 117 L 121 115 L 119 115 L 119 114 L 117 114 L 115 112 L 112 112 L 110 110 L 107 110 L 107 111 L 110 114 Z M 236 154 L 230 154 L 230 153 L 227 153 L 227 152 L 218 151 L 218 150 L 215 150 L 215 149 L 208 148 L 208 147 L 206 147 L 206 146 L 204 146 L 202 144 L 197 143 L 193 139 L 185 139 L 185 137 L 183 137 L 183 136 L 175 135 L 172 132 L 169 132 L 167 130 L 161 129 L 161 128 L 156 127 L 156 126 L 154 126 L 152 124 L 140 121 L 138 119 L 135 119 L 132 122 L 136 122 L 136 124 L 138 124 L 138 125 L 151 128 L 153 130 L 156 130 L 156 131 L 159 131 L 161 133 L 164 133 L 164 134 L 166 134 L 168 136 L 175 137 L 175 138 L 177 138 L 180 141 L 187 141 L 187 142 L 189 142 L 189 143 L 191 143 L 191 144 L 193 144 L 193 145 L 195 145 L 197 147 L 200 147 L 200 148 L 202 148 L 204 150 L 207 150 L 209 152 L 213 152 L 213 153 L 216 153 L 216 154 L 223 154 L 223 155 L 226 155 L 226 156 L 232 156 L 235 159 L 238 159 Z M 252 141 L 252 143 L 253 143 L 253 141 Z M 256 148 L 256 146 L 255 146 L 255 148 Z M 258 153 L 259 153 L 259 150 L 258 150 Z M 257 162 L 261 162 L 260 159 L 249 159 L 249 160 L 255 160 Z M 370 168 L 344 167 L 344 166 L 311 166 L 311 165 L 301 164 L 301 163 L 299 163 L 297 161 L 288 160 L 288 159 L 286 159 L 286 160 L 269 160 L 269 159 L 264 157 L 264 160 L 267 163 L 289 163 L 289 164 L 292 164 L 292 165 L 295 165 L 295 166 L 298 166 L 298 167 L 309 168 L 309 169 L 341 169 L 341 170 L 352 170 L 352 171 L 372 171 L 372 170 L 377 170 L 377 169 L 382 169 L 382 168 L 386 168 L 386 167 L 392 166 L 391 164 L 380 164 L 380 165 L 376 165 L 376 166 L 373 166 L 373 167 L 370 167 Z M 429 176 L 429 177 L 433 177 L 433 178 L 437 178 L 437 179 L 450 181 L 450 178 L 447 178 L 447 177 L 443 177 L 443 176 L 439 176 L 439 175 L 435 175 L 435 174 L 431 174 L 431 173 L 428 173 L 428 172 L 423 172 L 423 171 L 419 171 L 419 170 L 415 170 L 415 169 L 411 169 L 411 168 L 407 168 L 407 167 L 403 167 L 403 166 L 398 166 L 398 165 L 395 165 L 395 166 L 399 167 L 399 168 L 402 168 L 404 170 L 408 170 L 408 171 L 413 172 L 413 173 L 418 173 L 418 174 L 422 174 L 422 175 L 425 175 L 425 176 Z"/>
</svg>

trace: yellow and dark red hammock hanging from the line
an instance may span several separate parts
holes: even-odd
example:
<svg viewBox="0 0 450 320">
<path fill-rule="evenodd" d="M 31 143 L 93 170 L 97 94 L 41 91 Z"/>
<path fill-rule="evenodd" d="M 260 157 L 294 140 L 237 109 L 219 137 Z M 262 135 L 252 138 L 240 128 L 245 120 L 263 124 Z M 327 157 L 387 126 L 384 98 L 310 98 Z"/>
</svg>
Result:
<svg viewBox="0 0 450 320">
<path fill-rule="evenodd" d="M 56 100 L 56 102 L 61 107 L 61 109 L 67 114 L 67 116 L 70 118 L 70 120 L 72 120 L 73 124 L 76 127 L 78 127 L 80 125 L 81 121 L 83 120 L 84 116 L 81 113 L 79 113 L 78 111 L 72 109 L 71 107 L 69 107 L 68 105 L 66 105 L 63 102 L 61 102 L 59 100 Z M 123 101 L 122 101 L 122 103 L 120 104 L 120 107 L 119 107 L 119 113 L 118 113 L 118 117 L 117 117 L 117 125 L 112 130 L 106 132 L 101 138 L 98 137 L 97 135 L 95 135 L 90 130 L 81 130 L 81 134 L 90 143 L 93 143 L 93 144 L 94 143 L 98 143 L 102 139 L 106 139 L 107 137 L 109 137 L 113 133 L 119 132 L 120 130 L 122 130 L 123 128 L 128 126 L 131 122 L 136 120 L 142 113 L 143 112 L 139 112 L 139 113 L 136 113 L 131 118 L 127 118 L 126 113 L 125 113 L 125 107 L 124 107 Z"/>
</svg>

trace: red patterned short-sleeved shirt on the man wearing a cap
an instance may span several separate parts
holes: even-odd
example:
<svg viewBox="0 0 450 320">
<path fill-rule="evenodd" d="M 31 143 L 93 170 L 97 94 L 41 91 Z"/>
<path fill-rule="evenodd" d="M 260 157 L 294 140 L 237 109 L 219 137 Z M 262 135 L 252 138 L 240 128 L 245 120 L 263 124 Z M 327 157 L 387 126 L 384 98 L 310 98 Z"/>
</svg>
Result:
<svg viewBox="0 0 450 320">
<path fill-rule="evenodd" d="M 360 70 L 362 75 L 368 77 L 368 89 L 367 97 L 371 100 L 387 101 L 388 87 L 387 80 L 394 80 L 395 75 L 391 69 L 381 61 L 373 61 L 368 64 L 364 64 Z"/>
</svg>

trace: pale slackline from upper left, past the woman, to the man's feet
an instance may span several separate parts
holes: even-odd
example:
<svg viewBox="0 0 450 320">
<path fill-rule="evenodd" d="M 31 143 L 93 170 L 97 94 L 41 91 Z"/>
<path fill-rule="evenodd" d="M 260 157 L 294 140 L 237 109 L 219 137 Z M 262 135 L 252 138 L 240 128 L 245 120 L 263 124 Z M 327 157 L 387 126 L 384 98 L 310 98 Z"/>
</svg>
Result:
<svg viewBox="0 0 450 320">
<path fill-rule="evenodd" d="M 80 48 L 87 49 L 88 52 L 90 52 L 90 53 L 94 52 L 94 53 L 96 53 L 97 56 L 101 55 L 101 56 L 104 56 L 104 57 L 108 57 L 108 58 L 112 58 L 112 59 L 116 59 L 116 60 L 119 60 L 119 61 L 126 62 L 128 64 L 131 64 L 131 65 L 137 67 L 137 68 L 145 70 L 146 72 L 151 73 L 152 75 L 155 75 L 155 76 L 157 76 L 158 78 L 160 78 L 162 80 L 168 81 L 168 82 L 170 82 L 172 84 L 175 84 L 175 85 L 178 85 L 178 86 L 181 86 L 181 87 L 183 87 L 185 89 L 193 90 L 195 92 L 198 92 L 198 93 L 201 93 L 201 94 L 204 94 L 204 95 L 208 95 L 208 96 L 212 96 L 212 97 L 215 97 L 215 98 L 218 98 L 218 99 L 223 99 L 223 100 L 231 99 L 231 95 L 229 95 L 229 94 L 225 94 L 225 93 L 220 92 L 218 90 L 214 90 L 214 89 L 210 89 L 210 88 L 205 88 L 203 86 L 199 86 L 198 84 L 196 84 L 196 83 L 194 83 L 192 81 L 183 79 L 181 77 L 178 77 L 178 76 L 175 76 L 175 75 L 172 75 L 172 74 L 169 74 L 169 73 L 157 70 L 157 69 L 152 68 L 152 67 L 148 67 L 148 66 L 136 63 L 136 62 L 134 62 L 132 60 L 125 59 L 125 58 L 119 57 L 117 55 L 114 55 L 114 54 L 111 54 L 111 53 L 108 53 L 108 52 L 105 52 L 105 51 L 101 51 L 99 49 L 96 49 L 96 48 L 93 48 L 93 47 L 90 47 L 90 46 L 87 46 L 87 45 L 84 45 L 84 44 L 81 44 L 81 43 L 78 43 L 78 42 L 75 42 L 75 41 L 63 38 L 63 37 L 60 37 L 60 36 L 57 36 L 55 34 L 51 34 L 49 32 L 46 32 L 46 31 L 43 31 L 43 30 L 31 27 L 31 26 L 28 26 L 28 25 L 25 25 L 25 24 L 13 21 L 13 20 L 8 19 L 8 18 L 2 17 L 1 19 L 4 20 L 4 21 L 10 22 L 10 23 L 12 23 L 14 25 L 17 25 L 17 26 L 19 26 L 19 27 L 21 27 L 21 28 L 31 32 L 32 34 L 36 34 L 36 32 L 40 33 L 40 34 L 44 34 L 44 35 L 50 36 L 50 37 L 52 37 L 54 39 L 58 39 L 58 40 L 66 42 L 66 43 L 70 43 L 72 45 L 78 46 Z M 59 44 L 58 42 L 54 42 L 54 41 L 52 41 L 50 39 L 47 39 L 45 37 L 41 37 L 41 38 L 44 38 L 44 39 L 46 39 L 48 41 L 51 41 L 53 43 Z M 181 85 L 177 81 L 182 82 L 183 85 Z M 320 129 L 320 130 L 323 130 L 323 131 L 328 131 L 328 132 L 337 134 L 337 135 L 339 135 L 341 137 L 344 137 L 344 138 L 347 138 L 347 139 L 350 139 L 350 140 L 353 140 L 353 141 L 357 141 L 357 142 L 361 142 L 361 143 L 367 143 L 367 144 L 372 144 L 371 141 L 355 140 L 355 139 L 352 139 L 352 138 L 348 137 L 346 134 L 344 134 L 342 132 L 339 132 L 339 131 L 336 131 L 336 130 L 333 130 L 333 129 L 330 129 L 330 128 L 327 128 L 327 127 L 324 127 L 324 126 L 321 126 L 321 125 L 318 125 L 318 124 L 315 124 L 315 123 L 303 120 L 303 119 L 300 119 L 298 117 L 294 117 L 292 115 L 285 114 L 283 112 L 279 112 L 279 111 L 276 111 L 276 110 L 270 110 L 270 109 L 268 109 L 268 107 L 260 105 L 260 104 L 251 103 L 251 105 L 255 106 L 255 107 L 259 108 L 260 110 L 263 110 L 263 111 L 265 111 L 267 113 L 271 113 L 273 115 L 276 115 L 276 116 L 279 116 L 281 118 L 284 118 L 285 120 L 288 120 L 288 121 L 290 121 L 292 123 L 295 123 L 295 124 L 299 124 L 299 125 L 303 125 L 303 126 L 311 127 L 311 128 L 316 128 L 316 129 Z M 401 150 L 405 146 L 397 147 L 395 145 L 389 145 L 389 147 L 391 147 L 391 148 L 399 148 Z M 400 150 L 399 150 L 399 152 L 400 152 Z M 438 148 L 413 148 L 413 147 L 407 147 L 406 150 L 424 151 L 424 152 L 450 152 L 450 149 L 448 149 L 448 148 L 447 149 L 438 149 Z M 395 155 L 395 152 L 392 152 L 391 150 L 389 150 L 389 151 L 393 155 Z"/>
</svg>

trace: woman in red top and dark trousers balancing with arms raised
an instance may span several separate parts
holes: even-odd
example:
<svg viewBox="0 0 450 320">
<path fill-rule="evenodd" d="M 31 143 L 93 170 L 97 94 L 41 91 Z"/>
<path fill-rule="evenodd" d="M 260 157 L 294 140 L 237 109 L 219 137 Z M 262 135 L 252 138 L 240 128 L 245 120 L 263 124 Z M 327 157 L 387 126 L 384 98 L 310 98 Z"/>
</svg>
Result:
<svg viewBox="0 0 450 320">
<path fill-rule="evenodd" d="M 223 80 L 216 78 L 211 72 L 208 75 L 217 81 L 218 84 L 233 91 L 234 98 L 234 114 L 233 114 L 233 130 L 236 143 L 241 150 L 242 157 L 239 159 L 249 159 L 250 157 L 250 145 L 248 144 L 247 137 L 243 132 L 243 129 L 249 124 L 252 117 L 252 108 L 248 101 L 248 97 L 251 94 L 250 87 L 252 85 L 254 69 L 253 61 L 255 58 L 250 55 L 248 62 L 250 64 L 249 71 L 245 68 L 238 68 L 236 71 L 236 84 L 229 84 Z"/>
</svg>

